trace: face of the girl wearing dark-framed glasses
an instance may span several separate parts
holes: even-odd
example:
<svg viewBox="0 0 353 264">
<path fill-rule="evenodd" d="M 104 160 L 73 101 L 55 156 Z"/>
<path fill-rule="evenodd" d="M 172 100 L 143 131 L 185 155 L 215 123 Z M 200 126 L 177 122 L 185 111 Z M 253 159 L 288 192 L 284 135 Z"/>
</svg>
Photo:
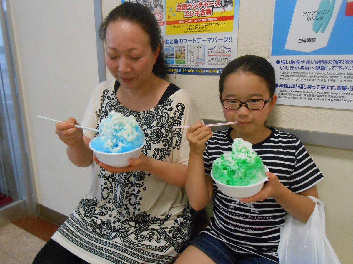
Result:
<svg viewBox="0 0 353 264">
<path fill-rule="evenodd" d="M 270 99 L 270 90 L 265 81 L 258 75 L 237 71 L 229 74 L 223 84 L 223 92 L 220 95 L 222 100 L 237 99 L 245 102 L 249 99 Z M 224 117 L 228 122 L 238 121 L 238 124 L 232 125 L 234 135 L 241 138 L 261 137 L 265 128 L 264 123 L 268 114 L 272 111 L 277 100 L 273 95 L 270 102 L 265 104 L 264 108 L 259 110 L 250 110 L 243 104 L 238 109 L 226 109 L 223 107 Z"/>
</svg>

